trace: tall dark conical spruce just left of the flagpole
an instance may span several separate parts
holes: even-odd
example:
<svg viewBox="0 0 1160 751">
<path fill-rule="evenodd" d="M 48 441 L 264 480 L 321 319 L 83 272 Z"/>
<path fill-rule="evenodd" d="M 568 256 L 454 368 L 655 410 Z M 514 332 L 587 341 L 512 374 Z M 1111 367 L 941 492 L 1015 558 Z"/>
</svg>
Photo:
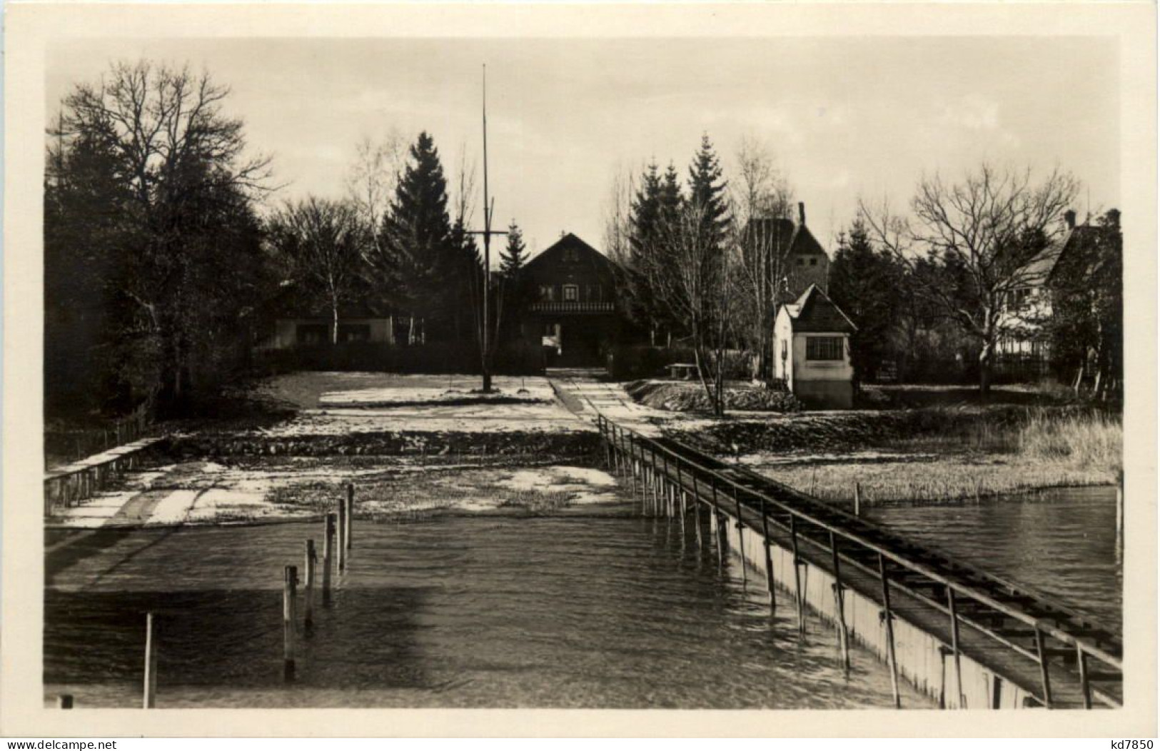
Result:
<svg viewBox="0 0 1160 751">
<path fill-rule="evenodd" d="M 426 131 L 409 150 L 409 161 L 383 218 L 383 252 L 375 260 L 376 281 L 400 313 L 426 319 L 443 308 L 454 287 L 443 279 L 451 266 L 451 222 L 447 212 L 447 178 L 435 142 Z M 455 290 L 458 291 L 458 290 Z M 434 322 L 432 322 L 434 323 Z"/>
</svg>

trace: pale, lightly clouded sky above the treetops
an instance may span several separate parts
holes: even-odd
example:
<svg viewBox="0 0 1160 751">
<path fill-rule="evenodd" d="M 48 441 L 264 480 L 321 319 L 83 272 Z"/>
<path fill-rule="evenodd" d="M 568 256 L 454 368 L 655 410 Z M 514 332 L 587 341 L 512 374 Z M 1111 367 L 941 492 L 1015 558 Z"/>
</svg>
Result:
<svg viewBox="0 0 1160 751">
<path fill-rule="evenodd" d="M 1118 60 L 1095 37 L 88 39 L 52 49 L 49 111 L 142 57 L 232 87 L 275 200 L 341 196 L 358 140 L 392 129 L 432 132 L 449 175 L 479 165 L 486 63 L 496 222 L 535 250 L 564 231 L 600 247 L 614 175 L 683 175 L 702 133 L 726 172 L 744 137 L 767 143 L 831 251 L 860 195 L 901 205 L 923 173 L 981 160 L 1073 172 L 1081 215 L 1119 201 Z"/>
</svg>

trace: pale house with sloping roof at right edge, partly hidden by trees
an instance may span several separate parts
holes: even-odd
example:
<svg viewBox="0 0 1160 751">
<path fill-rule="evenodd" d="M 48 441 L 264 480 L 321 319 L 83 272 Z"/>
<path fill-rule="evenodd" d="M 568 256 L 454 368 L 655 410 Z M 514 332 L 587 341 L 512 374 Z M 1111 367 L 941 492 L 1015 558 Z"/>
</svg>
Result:
<svg viewBox="0 0 1160 751">
<path fill-rule="evenodd" d="M 1088 276 L 1100 262 L 1101 243 L 1118 239 L 1119 211 L 1111 209 L 1103 224 L 1075 223 L 1075 211 L 1064 214 L 1064 233 L 1015 275 L 1003 301 L 1001 326 L 1007 332 L 995 346 L 998 375 L 1044 376 L 1051 351 L 1043 322 L 1052 316 L 1053 291 L 1065 273 Z"/>
</svg>

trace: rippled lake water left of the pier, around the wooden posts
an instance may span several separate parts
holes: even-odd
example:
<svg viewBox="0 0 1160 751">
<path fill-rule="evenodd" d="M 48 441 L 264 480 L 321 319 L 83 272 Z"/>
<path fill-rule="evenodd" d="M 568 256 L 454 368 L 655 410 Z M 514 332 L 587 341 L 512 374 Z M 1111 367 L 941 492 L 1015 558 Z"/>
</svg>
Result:
<svg viewBox="0 0 1160 751">
<path fill-rule="evenodd" d="M 818 621 L 771 619 L 763 577 L 691 525 L 626 507 L 361 523 L 332 607 L 282 680 L 283 565 L 320 525 L 96 534 L 50 557 L 45 702 L 140 703 L 159 615 L 158 707 L 856 708 L 891 703 Z M 784 600 L 783 600 L 784 601 Z M 300 602 L 300 600 L 299 600 Z M 905 707 L 929 707 L 905 691 Z"/>
</svg>

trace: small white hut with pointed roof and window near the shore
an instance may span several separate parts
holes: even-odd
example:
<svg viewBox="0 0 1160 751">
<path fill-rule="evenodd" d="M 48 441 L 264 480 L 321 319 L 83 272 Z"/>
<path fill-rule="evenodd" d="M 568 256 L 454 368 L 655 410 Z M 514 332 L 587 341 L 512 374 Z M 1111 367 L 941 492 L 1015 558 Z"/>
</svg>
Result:
<svg viewBox="0 0 1160 751">
<path fill-rule="evenodd" d="M 774 376 L 809 406 L 854 406 L 850 334 L 854 323 L 815 284 L 777 309 Z"/>
</svg>

